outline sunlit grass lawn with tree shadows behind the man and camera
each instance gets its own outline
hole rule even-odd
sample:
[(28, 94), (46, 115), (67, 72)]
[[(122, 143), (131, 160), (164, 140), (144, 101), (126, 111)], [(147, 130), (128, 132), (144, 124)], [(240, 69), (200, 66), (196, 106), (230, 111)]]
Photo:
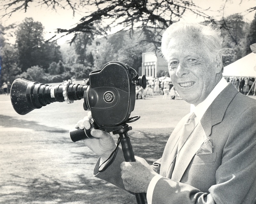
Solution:
[[(135, 155), (149, 163), (161, 157), (173, 128), (189, 104), (153, 96), (136, 100), (128, 132)], [(10, 96), (0, 95), (0, 203), (97, 204), (136, 203), (133, 195), (98, 178), (97, 161), (83, 142), (72, 142), (68, 131), (86, 115), (83, 100), (52, 103), (18, 115)], [(117, 140), (117, 136), (113, 136)]]

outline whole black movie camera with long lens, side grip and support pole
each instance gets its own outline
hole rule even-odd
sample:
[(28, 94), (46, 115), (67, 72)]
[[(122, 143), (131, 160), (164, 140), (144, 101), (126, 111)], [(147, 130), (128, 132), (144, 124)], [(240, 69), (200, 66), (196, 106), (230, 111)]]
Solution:
[[(52, 102), (73, 103), (84, 98), (84, 110), (90, 110), (94, 122), (90, 130), (72, 129), (71, 140), (76, 142), (91, 138), (91, 130), (101, 129), (119, 134), (120, 143), (127, 162), (134, 162), (134, 154), (127, 132), (132, 129), (126, 123), (139, 119), (130, 117), (134, 109), (135, 87), (146, 88), (146, 77), (139, 78), (132, 67), (122, 62), (108, 62), (100, 70), (89, 74), (90, 85), (67, 82), (50, 86), (26, 79), (16, 79), (11, 87), (11, 101), (14, 110), (25, 115), (34, 109), (40, 109)], [(135, 193), (138, 203), (145, 203), (140, 193)]]

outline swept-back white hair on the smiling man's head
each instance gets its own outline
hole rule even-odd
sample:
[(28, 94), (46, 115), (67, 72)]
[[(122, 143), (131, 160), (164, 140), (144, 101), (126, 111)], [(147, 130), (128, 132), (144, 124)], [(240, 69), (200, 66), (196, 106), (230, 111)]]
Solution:
[(211, 60), (217, 55), (222, 53), (222, 41), (220, 28), (213, 23), (203, 25), (200, 23), (186, 23), (178, 21), (169, 26), (162, 37), (162, 53), (167, 59), (168, 44), (173, 37), (178, 37), (181, 34), (187, 34), (188, 36), (198, 36), (201, 39), (202, 46), (205, 49), (206, 54)]

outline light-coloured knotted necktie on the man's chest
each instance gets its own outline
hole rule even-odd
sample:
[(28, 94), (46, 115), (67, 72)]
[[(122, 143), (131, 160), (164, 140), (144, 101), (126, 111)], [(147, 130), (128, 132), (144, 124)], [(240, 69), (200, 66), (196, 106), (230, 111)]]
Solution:
[(184, 143), (187, 141), (188, 137), (191, 135), (191, 133), (195, 129), (195, 117), (196, 117), (196, 114), (192, 113), (188, 117), (187, 122), (182, 127), (180, 139), (179, 139), (179, 145), (178, 145), (178, 154), (180, 152), (180, 149), (184, 145)]

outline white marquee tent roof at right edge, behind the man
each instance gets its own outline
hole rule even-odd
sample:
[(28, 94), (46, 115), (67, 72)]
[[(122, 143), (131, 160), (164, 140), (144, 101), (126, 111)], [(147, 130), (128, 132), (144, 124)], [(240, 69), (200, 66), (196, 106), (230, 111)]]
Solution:
[(223, 76), (256, 78), (256, 54), (250, 53), (224, 67)]

